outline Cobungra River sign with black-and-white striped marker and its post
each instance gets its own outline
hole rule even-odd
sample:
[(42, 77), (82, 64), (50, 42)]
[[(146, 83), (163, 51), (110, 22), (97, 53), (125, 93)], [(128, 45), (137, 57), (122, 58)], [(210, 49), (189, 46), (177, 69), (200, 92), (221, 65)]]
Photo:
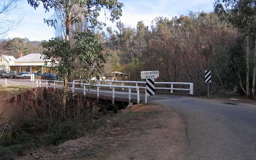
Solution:
[(151, 96), (155, 95), (155, 78), (159, 78), (159, 71), (142, 71), (140, 76), (141, 79), (146, 79), (145, 102), (147, 102), (147, 96), (149, 96), (149, 106), (151, 109)]

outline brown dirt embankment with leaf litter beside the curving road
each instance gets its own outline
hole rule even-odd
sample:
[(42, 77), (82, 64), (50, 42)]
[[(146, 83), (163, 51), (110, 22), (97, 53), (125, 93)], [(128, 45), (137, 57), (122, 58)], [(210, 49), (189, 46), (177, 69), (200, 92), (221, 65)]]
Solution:
[(57, 147), (38, 149), (20, 160), (183, 159), (185, 124), (167, 107), (134, 105), (105, 120), (104, 129)]

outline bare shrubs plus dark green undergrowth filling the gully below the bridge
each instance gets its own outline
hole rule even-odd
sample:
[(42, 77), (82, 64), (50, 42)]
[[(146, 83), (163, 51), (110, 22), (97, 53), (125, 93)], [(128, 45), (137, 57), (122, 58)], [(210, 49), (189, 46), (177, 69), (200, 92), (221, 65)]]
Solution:
[[(8, 92), (8, 87), (1, 87), (1, 93)], [(111, 128), (105, 122), (116, 110), (97, 113), (99, 108), (94, 100), (70, 93), (66, 112), (61, 113), (60, 97), (57, 89), (48, 88), (46, 92), (38, 88), (27, 92), (17, 104), (0, 100), (0, 159), (26, 155), (37, 148)]]

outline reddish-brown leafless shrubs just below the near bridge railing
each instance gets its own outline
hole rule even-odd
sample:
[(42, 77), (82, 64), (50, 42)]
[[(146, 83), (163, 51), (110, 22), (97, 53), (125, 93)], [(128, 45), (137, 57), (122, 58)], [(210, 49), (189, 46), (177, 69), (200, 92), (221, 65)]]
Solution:
[(61, 105), (62, 92), (44, 87), (27, 92), (15, 100), (0, 100), (0, 136), (4, 132), (44, 130), (67, 122), (85, 124), (91, 120), (94, 100), (69, 93), (67, 105)]

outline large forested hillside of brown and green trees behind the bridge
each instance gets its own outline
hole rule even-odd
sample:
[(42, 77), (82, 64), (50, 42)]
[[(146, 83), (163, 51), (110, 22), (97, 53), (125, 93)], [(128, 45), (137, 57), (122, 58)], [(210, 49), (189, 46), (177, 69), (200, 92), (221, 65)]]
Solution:
[(137, 28), (125, 22), (116, 27), (108, 27), (103, 37), (115, 57), (113, 70), (124, 71), (131, 80), (140, 80), (140, 71), (159, 70), (159, 81), (193, 82), (195, 93), (201, 95), (207, 86), (204, 70), (211, 70), (215, 94), (241, 89), (239, 76), (245, 86), (244, 35), (215, 13), (157, 17), (151, 27), (143, 21)]

